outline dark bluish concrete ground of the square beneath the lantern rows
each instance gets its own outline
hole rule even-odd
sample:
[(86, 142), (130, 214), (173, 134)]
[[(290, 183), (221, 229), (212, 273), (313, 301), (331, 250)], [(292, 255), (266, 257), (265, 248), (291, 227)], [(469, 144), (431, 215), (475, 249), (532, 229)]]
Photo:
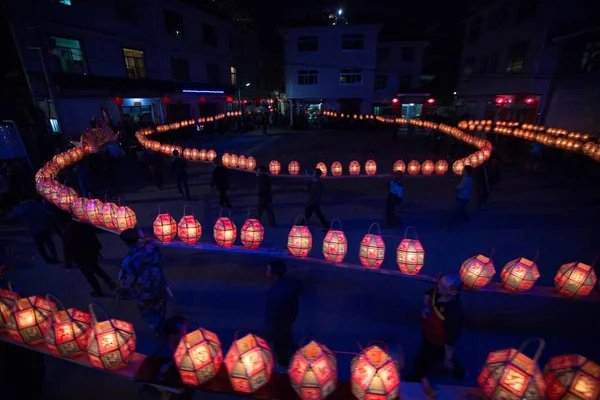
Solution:
[[(316, 135), (316, 136), (315, 136)], [(337, 144), (339, 134), (327, 132), (276, 132), (274, 135), (248, 135), (242, 138), (223, 138), (212, 143), (221, 153), (251, 149), (259, 162), (268, 162), (272, 153), (289, 154), (290, 144), (310, 143), (318, 137), (317, 145), (306, 145), (302, 154), (312, 162), (311, 148), (329, 148)], [(371, 135), (377, 135), (372, 133)], [(377, 146), (395, 146), (389, 133), (385, 137), (364, 135), (364, 148), (377, 141)], [(348, 134), (353, 143), (360, 142), (356, 134)], [(350, 139), (349, 139), (350, 140)], [(400, 140), (400, 143), (403, 143)], [(276, 149), (279, 149), (276, 151)], [(415, 158), (426, 151), (421, 147)], [(410, 148), (405, 154), (412, 157)], [(259, 158), (260, 157), (260, 158)], [(390, 156), (390, 159), (392, 157)], [(137, 213), (139, 226), (150, 232), (159, 203), (176, 220), (185, 204), (193, 207), (204, 233), (203, 241), (212, 242), (212, 225), (218, 217), (217, 194), (210, 190), (208, 165), (190, 167), (192, 200), (182, 200), (172, 179), (158, 191), (143, 180), (135, 166), (123, 165), (116, 190), (126, 204)], [(448, 232), (440, 228), (450, 215), (454, 202), (454, 186), (458, 178), (407, 177), (405, 202), (401, 207), (402, 227), (382, 229), (387, 246), (382, 268), (396, 269), (395, 248), (408, 225), (415, 226), (426, 251), (425, 274), (438, 271), (456, 273), (467, 257), (489, 253), (493, 257), (499, 281), (499, 271), (511, 259), (532, 256), (540, 251), (538, 265), (542, 276), (538, 285), (551, 286), (560, 265), (571, 261), (591, 263), (598, 253), (597, 227), (598, 193), (595, 186), (572, 192), (543, 174), (526, 174), (516, 167), (507, 167), (503, 181), (495, 188), (489, 206), (475, 211), (469, 206), (471, 222), (460, 224)], [(264, 247), (285, 248), (287, 233), (296, 215), (303, 212), (306, 201), (303, 179), (274, 177), (274, 203), (278, 228), (266, 229)], [(115, 188), (113, 188), (115, 189)], [(383, 222), (386, 183), (381, 179), (326, 180), (323, 211), (328, 218), (339, 218), (349, 242), (346, 262), (358, 263), (358, 244), (372, 222)], [(256, 178), (252, 174), (232, 172), (230, 199), (234, 206), (233, 220), (241, 227), (248, 209), (256, 206)], [(266, 221), (265, 221), (266, 222)], [(383, 225), (382, 225), (383, 228)], [(6, 278), (19, 284), (27, 293), (52, 293), (63, 303), (85, 309), (92, 300), (91, 291), (78, 272), (67, 273), (61, 266), (45, 265), (35, 253), (32, 240), (13, 222), (3, 221), (2, 241), (16, 245), (21, 262), (7, 271)], [(310, 256), (322, 258), (320, 247), (324, 233), (312, 221), (313, 249)], [(110, 233), (99, 235), (103, 243), (102, 266), (116, 276), (125, 248), (118, 237)], [(260, 334), (263, 329), (264, 293), (270, 285), (265, 277), (266, 256), (227, 252), (201, 252), (192, 249), (163, 249), (163, 267), (174, 292), (168, 306), (170, 315), (181, 314), (201, 326), (213, 330), (225, 346), (231, 343), (237, 329)], [(301, 310), (294, 334), (298, 340), (314, 337), (332, 350), (357, 351), (372, 340), (384, 340), (405, 355), (406, 373), (412, 364), (420, 341), (418, 316), (423, 292), (430, 284), (415, 279), (390, 277), (370, 271), (351, 271), (321, 263), (289, 262), (290, 273), (305, 285)], [(598, 296), (596, 294), (595, 299)], [(463, 385), (474, 386), (479, 368), (489, 351), (518, 347), (531, 337), (543, 337), (546, 349), (541, 363), (564, 353), (580, 353), (600, 361), (597, 346), (598, 301), (566, 300), (503, 293), (465, 292), (462, 301), (467, 314), (467, 327), (457, 346), (457, 355), (469, 371)], [(130, 302), (100, 299), (114, 317), (134, 323), (138, 335), (138, 351), (150, 354), (156, 342)], [(533, 349), (528, 354), (533, 354)], [(348, 379), (351, 356), (338, 357), (339, 375)], [(88, 371), (60, 360), (49, 360), (47, 398), (73, 397), (70, 385), (85, 390), (87, 398), (135, 398), (138, 385), (110, 377), (98, 371)], [(439, 384), (452, 383), (439, 376)], [(118, 389), (118, 391), (117, 391)], [(198, 398), (208, 398), (205, 394)]]

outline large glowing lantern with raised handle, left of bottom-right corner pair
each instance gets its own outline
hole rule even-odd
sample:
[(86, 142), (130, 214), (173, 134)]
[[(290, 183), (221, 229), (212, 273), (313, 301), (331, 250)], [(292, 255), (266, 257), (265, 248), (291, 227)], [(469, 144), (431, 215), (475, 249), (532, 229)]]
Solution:
[(477, 377), (483, 397), (490, 400), (542, 399), (546, 384), (537, 360), (543, 345), (533, 359), (521, 350), (491, 352)]

